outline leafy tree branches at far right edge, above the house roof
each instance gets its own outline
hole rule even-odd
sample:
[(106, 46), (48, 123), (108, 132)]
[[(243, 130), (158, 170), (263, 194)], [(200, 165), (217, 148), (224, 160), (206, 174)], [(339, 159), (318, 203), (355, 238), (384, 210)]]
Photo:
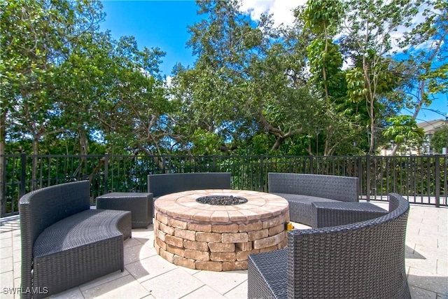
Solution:
[[(448, 2), (422, 1), (424, 20), (405, 34), (400, 41), (404, 48), (406, 69), (402, 89), (407, 92), (406, 106), (412, 118), (428, 107), (433, 97), (448, 92)], [(393, 153), (400, 144), (395, 144)]]

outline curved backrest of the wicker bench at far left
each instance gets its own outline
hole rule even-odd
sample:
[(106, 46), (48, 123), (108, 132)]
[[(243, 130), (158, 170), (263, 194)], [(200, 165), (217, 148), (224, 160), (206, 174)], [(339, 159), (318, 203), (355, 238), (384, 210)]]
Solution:
[(89, 181), (45, 187), (20, 198), (22, 287), (31, 286), (33, 246), (38, 235), (53, 223), (86, 209), (90, 209)]

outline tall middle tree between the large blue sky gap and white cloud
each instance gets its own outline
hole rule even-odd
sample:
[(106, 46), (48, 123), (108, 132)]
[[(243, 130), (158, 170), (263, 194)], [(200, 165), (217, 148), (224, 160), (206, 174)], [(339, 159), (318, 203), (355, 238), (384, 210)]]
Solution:
[[(238, 11), (237, 1), (197, 1), (198, 13), (208, 18), (189, 27), (188, 46), (197, 55), (193, 69), (178, 67), (172, 84), (181, 105), (176, 119), (176, 142), (188, 144), (199, 134), (217, 134), (215, 141), (237, 142), (248, 110), (240, 109), (250, 49), (258, 43), (253, 29)], [(199, 140), (199, 139), (198, 139)], [(228, 150), (225, 144), (216, 148)]]

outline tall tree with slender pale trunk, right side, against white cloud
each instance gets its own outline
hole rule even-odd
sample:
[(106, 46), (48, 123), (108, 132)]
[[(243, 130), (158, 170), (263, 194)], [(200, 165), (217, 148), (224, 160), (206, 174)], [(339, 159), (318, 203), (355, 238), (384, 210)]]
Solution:
[[(412, 1), (362, 0), (346, 1), (346, 26), (342, 48), (353, 61), (346, 74), (348, 95), (353, 102), (363, 102), (369, 115), (370, 148), (378, 125), (378, 104), (397, 87), (399, 77), (391, 69), (391, 35), (398, 27), (409, 25), (416, 14)], [(392, 99), (388, 99), (391, 101)], [(382, 104), (387, 104), (383, 101)]]

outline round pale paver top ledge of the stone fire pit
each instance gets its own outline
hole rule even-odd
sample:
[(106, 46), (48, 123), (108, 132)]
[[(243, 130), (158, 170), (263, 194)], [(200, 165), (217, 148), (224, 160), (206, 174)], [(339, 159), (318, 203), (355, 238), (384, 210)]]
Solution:
[[(215, 205), (197, 202), (210, 195), (239, 196), (244, 204)], [(164, 195), (155, 200), (155, 211), (174, 218), (197, 222), (234, 223), (271, 218), (288, 211), (288, 202), (278, 195), (251, 190), (189, 190)]]

